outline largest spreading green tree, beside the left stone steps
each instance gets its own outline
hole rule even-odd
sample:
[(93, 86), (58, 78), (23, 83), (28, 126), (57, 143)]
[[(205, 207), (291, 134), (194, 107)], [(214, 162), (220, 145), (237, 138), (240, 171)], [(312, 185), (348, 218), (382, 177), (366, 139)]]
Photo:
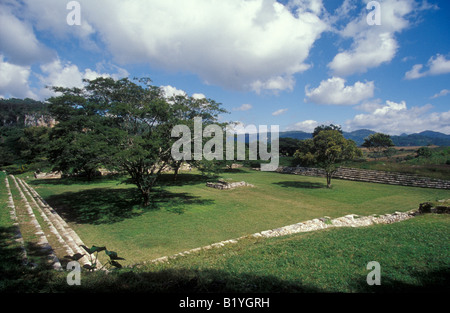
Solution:
[(174, 126), (190, 125), (194, 116), (212, 122), (222, 112), (212, 100), (167, 99), (147, 78), (97, 78), (85, 84), (81, 89), (53, 88), (61, 95), (49, 99), (58, 121), (51, 134), (51, 160), (65, 169), (103, 165), (125, 171), (144, 205), (173, 161)]

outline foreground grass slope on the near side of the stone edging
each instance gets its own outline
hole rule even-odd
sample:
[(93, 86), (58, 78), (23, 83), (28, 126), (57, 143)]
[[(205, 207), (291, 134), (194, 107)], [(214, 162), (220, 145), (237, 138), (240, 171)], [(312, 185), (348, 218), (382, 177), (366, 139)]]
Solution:
[[(449, 231), (450, 216), (429, 214), (390, 225), (244, 239), (170, 263), (84, 273), (80, 286), (68, 286), (66, 274), (53, 271), (29, 291), (448, 293)], [(379, 286), (366, 282), (371, 261), (380, 264)]]

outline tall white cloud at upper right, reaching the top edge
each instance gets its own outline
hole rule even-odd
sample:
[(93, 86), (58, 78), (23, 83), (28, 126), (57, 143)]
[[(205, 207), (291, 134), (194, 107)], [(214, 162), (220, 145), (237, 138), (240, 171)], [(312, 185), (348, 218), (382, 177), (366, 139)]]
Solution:
[[(399, 48), (395, 34), (409, 26), (408, 15), (414, 10), (427, 9), (426, 6), (418, 7), (413, 0), (379, 2), (381, 25), (368, 25), (367, 14), (370, 11), (364, 6), (357, 18), (338, 31), (344, 38), (352, 38), (353, 43), (350, 49), (338, 53), (328, 64), (335, 75), (365, 73), (370, 68), (390, 62)], [(344, 5), (349, 6), (349, 2), (345, 1)], [(348, 9), (341, 11), (348, 12)]]

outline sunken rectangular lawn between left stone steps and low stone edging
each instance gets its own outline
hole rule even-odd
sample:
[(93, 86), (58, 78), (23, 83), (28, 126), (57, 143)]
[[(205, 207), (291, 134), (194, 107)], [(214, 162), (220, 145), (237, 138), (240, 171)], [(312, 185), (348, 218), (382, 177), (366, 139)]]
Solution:
[(421, 189), (250, 170), (222, 173), (255, 185), (235, 190), (205, 186), (198, 173), (177, 183), (163, 176), (154, 202), (141, 208), (139, 194), (123, 179), (30, 180), (87, 245), (106, 245), (125, 265), (172, 255), (222, 240), (322, 216), (407, 211), (450, 198), (448, 190)]

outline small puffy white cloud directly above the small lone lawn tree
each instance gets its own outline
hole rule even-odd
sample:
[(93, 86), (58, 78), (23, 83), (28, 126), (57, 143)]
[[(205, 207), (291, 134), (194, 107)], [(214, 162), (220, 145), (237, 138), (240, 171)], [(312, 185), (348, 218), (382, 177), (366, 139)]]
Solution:
[(373, 82), (356, 82), (353, 86), (346, 86), (346, 81), (340, 77), (332, 77), (320, 83), (319, 87), (309, 89), (305, 87), (306, 99), (316, 104), (355, 105), (373, 97), (375, 85)]

